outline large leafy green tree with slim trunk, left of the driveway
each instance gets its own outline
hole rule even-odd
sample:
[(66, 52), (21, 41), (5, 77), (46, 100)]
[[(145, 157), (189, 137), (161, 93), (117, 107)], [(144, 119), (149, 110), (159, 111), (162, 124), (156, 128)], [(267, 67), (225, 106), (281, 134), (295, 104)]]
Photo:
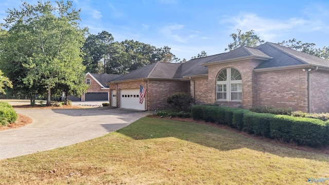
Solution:
[[(55, 6), (49, 1), (36, 5), (24, 2), (20, 10), (9, 10), (5, 18), (5, 27), (9, 29), (5, 63), (17, 63), (18, 67), (12, 69), (15, 72), (24, 69), (17, 79), (23, 81), (19, 84), (30, 91), (34, 89), (34, 93), (45, 90), (47, 106), (51, 90), (79, 73), (71, 69), (84, 69), (80, 48), (87, 30), (79, 27), (79, 12), (70, 1), (56, 1)], [(11, 61), (11, 55), (16, 61)]]

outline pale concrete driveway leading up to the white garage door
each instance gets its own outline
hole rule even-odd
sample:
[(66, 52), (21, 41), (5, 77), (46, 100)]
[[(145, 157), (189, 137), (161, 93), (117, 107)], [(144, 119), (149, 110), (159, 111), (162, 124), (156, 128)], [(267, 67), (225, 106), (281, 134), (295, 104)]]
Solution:
[(0, 132), (0, 159), (56, 149), (119, 130), (150, 113), (97, 107), (15, 109), (32, 118), (24, 127)]

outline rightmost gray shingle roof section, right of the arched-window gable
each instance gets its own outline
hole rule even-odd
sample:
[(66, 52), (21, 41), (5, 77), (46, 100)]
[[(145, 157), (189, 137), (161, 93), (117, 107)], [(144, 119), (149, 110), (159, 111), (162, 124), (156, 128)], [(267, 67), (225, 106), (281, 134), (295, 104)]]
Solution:
[(272, 59), (262, 62), (255, 69), (300, 64), (315, 64), (329, 67), (329, 61), (288, 47), (266, 42), (257, 49), (270, 55)]

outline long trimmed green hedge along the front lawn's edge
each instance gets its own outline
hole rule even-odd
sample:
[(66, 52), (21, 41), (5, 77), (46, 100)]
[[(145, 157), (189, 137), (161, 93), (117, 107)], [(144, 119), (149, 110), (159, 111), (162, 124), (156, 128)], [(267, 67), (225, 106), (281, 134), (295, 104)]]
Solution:
[(191, 116), (195, 120), (227, 124), (249, 134), (285, 142), (308, 146), (329, 144), (329, 121), (209, 105), (192, 106)]

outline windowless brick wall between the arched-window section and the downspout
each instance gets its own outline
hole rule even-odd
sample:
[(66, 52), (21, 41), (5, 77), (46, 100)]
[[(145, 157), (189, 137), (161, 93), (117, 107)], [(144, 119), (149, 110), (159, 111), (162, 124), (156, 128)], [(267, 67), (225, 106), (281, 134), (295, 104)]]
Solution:
[(258, 72), (256, 106), (307, 112), (307, 72), (301, 69)]

